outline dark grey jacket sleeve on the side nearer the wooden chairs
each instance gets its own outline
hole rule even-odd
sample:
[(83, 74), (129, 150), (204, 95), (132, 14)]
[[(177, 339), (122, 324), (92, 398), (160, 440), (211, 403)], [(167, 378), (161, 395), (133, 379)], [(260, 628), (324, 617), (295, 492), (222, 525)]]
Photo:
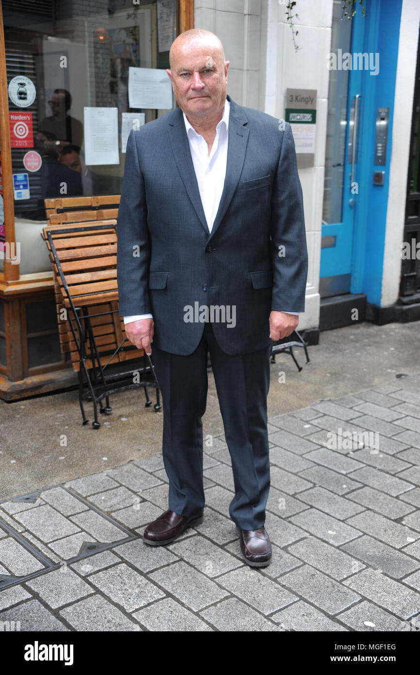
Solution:
[(150, 261), (145, 180), (140, 169), (134, 130), (126, 163), (117, 217), (117, 284), (120, 316), (151, 313), (148, 290)]

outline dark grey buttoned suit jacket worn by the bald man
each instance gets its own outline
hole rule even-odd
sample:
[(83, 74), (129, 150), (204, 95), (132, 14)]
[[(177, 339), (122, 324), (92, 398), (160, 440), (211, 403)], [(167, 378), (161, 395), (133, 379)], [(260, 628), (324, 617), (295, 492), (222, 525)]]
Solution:
[(128, 138), (117, 219), (120, 315), (151, 312), (153, 344), (173, 354), (195, 350), (206, 307), (231, 355), (269, 346), (271, 310), (305, 309), (307, 244), (290, 124), (228, 100), (226, 179), (211, 232), (181, 109)]

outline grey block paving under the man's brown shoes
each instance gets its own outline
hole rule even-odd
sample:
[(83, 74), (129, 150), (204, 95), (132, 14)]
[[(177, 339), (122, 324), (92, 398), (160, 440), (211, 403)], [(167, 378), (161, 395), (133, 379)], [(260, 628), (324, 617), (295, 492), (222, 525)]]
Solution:
[(273, 558), (257, 570), (221, 433), (204, 522), (165, 547), (142, 543), (167, 508), (159, 453), (8, 498), (0, 629), (420, 631), (419, 432), (420, 372), (271, 416)]

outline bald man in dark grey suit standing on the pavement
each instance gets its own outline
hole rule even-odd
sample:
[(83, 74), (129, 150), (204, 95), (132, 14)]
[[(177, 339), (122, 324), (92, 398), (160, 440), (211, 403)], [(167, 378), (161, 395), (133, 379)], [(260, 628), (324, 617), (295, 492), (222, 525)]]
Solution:
[(209, 352), (230, 517), (244, 560), (263, 567), (269, 356), (296, 329), (307, 281), (294, 141), (289, 124), (227, 95), (229, 61), (213, 33), (182, 33), (169, 62), (179, 107), (130, 133), (117, 221), (120, 315), (128, 339), (153, 353), (163, 400), (169, 508), (143, 541), (165, 545), (203, 521)]

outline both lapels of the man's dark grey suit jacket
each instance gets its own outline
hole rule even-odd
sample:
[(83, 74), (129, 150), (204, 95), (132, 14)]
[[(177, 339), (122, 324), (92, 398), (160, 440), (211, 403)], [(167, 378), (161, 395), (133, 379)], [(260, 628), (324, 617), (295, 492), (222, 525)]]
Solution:
[(230, 102), (230, 115), (226, 177), (224, 182), (224, 190), (221, 194), (219, 203), (219, 209), (217, 211), (211, 233), (207, 227), (203, 203), (201, 202), (199, 185), (196, 180), (194, 164), (192, 163), (190, 145), (188, 143), (188, 136), (186, 134), (182, 110), (177, 108), (174, 112), (177, 112), (178, 115), (176, 115), (175, 119), (169, 121), (169, 139), (172, 145), (172, 151), (174, 153), (178, 171), (180, 172), (182, 182), (184, 183), (185, 189), (188, 193), (188, 196), (190, 197), (192, 205), (194, 206), (196, 214), (199, 217), (201, 225), (203, 225), (205, 231), (209, 235), (209, 239), (213, 236), (213, 234), (215, 234), (217, 227), (219, 227), (228, 209), (228, 206), (232, 201), (236, 187), (238, 186), (238, 180), (244, 165), (246, 144), (248, 142), (249, 135), (248, 128), (244, 126), (247, 124), (248, 120), (244, 115), (242, 107), (234, 103), (230, 96), (228, 96), (228, 101)]

